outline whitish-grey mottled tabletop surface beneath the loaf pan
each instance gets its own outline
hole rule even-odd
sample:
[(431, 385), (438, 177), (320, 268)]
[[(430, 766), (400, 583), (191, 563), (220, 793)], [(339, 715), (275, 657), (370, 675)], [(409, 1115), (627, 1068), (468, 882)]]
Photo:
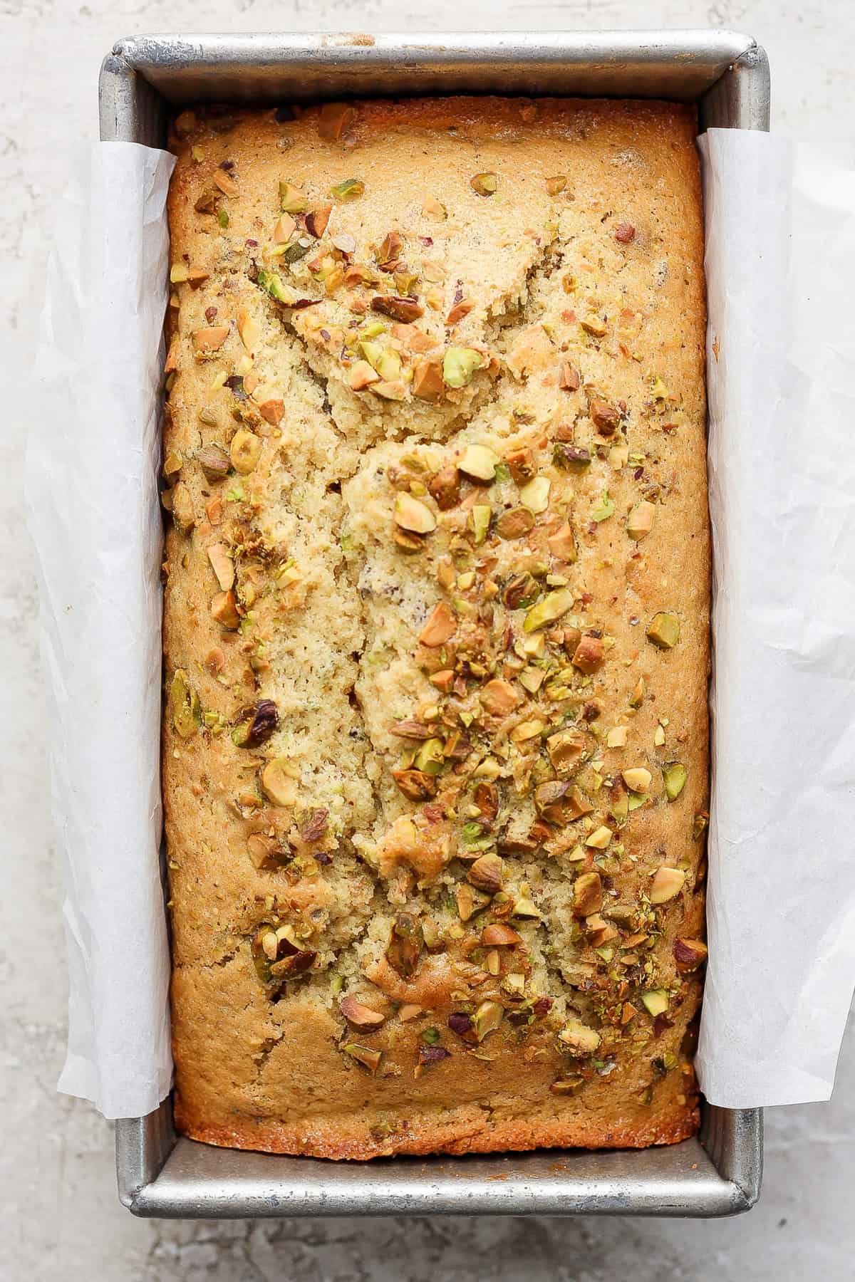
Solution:
[[(74, 137), (95, 137), (117, 36), (194, 29), (550, 29), (729, 26), (765, 44), (774, 123), (855, 159), (849, 0), (0, 0), (0, 1278), (3, 1282), (800, 1282), (855, 1276), (855, 1038), (829, 1105), (772, 1110), (760, 1205), (720, 1223), (296, 1220), (153, 1223), (117, 1199), (113, 1132), (55, 1094), (65, 1024), (50, 733), (21, 469), (46, 214)], [(746, 1013), (750, 1015), (750, 1013)]]

